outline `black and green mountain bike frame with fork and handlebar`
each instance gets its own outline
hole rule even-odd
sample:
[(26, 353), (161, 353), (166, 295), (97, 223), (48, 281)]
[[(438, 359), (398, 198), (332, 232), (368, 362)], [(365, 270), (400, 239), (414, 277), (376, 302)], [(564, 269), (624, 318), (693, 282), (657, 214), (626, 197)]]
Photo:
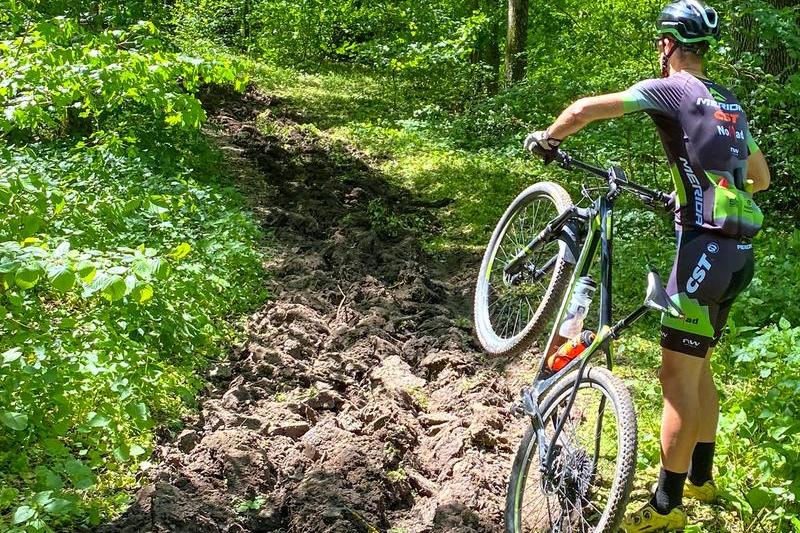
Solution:
[[(546, 370), (546, 357), (541, 358), (539, 365), (539, 372), (537, 378), (530, 387), (525, 387), (522, 390), (522, 410), (532, 419), (534, 429), (536, 430), (536, 439), (538, 450), (540, 454), (540, 465), (542, 474), (546, 474), (552, 467), (554, 460), (553, 450), (556, 441), (558, 440), (564, 425), (569, 416), (569, 412), (577, 397), (578, 389), (581, 380), (589, 365), (589, 362), (601, 352), (601, 349), (606, 354), (605, 366), (611, 370), (613, 366), (613, 357), (611, 351), (610, 341), (616, 338), (623, 330), (629, 327), (633, 322), (640, 318), (647, 312), (647, 307), (642, 305), (634, 312), (627, 315), (616, 324), (612, 325), (611, 313), (611, 280), (612, 280), (612, 255), (613, 255), (613, 235), (614, 235), (614, 202), (623, 189), (630, 190), (639, 195), (645, 201), (655, 202), (661, 201), (666, 203), (668, 196), (659, 191), (652, 191), (646, 187), (642, 187), (635, 183), (629, 182), (625, 177), (622, 169), (612, 167), (610, 169), (601, 169), (593, 167), (586, 163), (582, 163), (572, 159), (564, 152), (559, 152), (556, 159), (560, 166), (573, 169), (579, 168), (588, 171), (592, 174), (605, 178), (609, 185), (608, 193), (599, 197), (592, 206), (588, 208), (579, 208), (573, 206), (571, 209), (565, 211), (555, 219), (553, 219), (547, 228), (537, 235), (528, 246), (523, 248), (522, 255), (527, 255), (529, 250), (534, 248), (539, 242), (543, 240), (560, 239), (564, 246), (577, 247), (580, 240), (580, 234), (573, 235), (570, 231), (575, 232), (576, 229), (585, 229), (587, 224), (589, 226), (588, 234), (584, 241), (583, 247), (575, 259), (575, 268), (572, 273), (572, 278), (567, 287), (564, 299), (556, 316), (551, 330), (550, 337), (545, 348), (545, 354), (549, 354), (552, 349), (553, 340), (556, 336), (561, 322), (564, 320), (567, 306), (572, 294), (573, 287), (575, 286), (578, 278), (585, 276), (589, 273), (589, 269), (597, 256), (600, 253), (600, 317), (598, 324), (597, 336), (594, 342), (584, 350), (580, 357), (570, 361), (563, 369), (556, 374), (549, 376)], [(577, 228), (576, 228), (577, 226)], [(567, 234), (562, 237), (562, 232), (565, 228)], [(568, 250), (566, 257), (574, 259), (576, 250)], [(519, 264), (524, 261), (525, 257), (515, 257), (509, 265)], [(549, 263), (548, 263), (549, 264)], [(547, 438), (544, 433), (545, 421), (542, 418), (542, 413), (539, 409), (539, 402), (552, 390), (556, 382), (569, 372), (577, 368), (577, 379), (573, 387), (569, 400), (567, 401), (564, 412), (559, 416), (556, 424), (555, 431), (551, 438)], [(598, 435), (602, 431), (602, 413), (605, 409), (605, 398), (601, 399), (599, 412), (600, 416), (597, 420), (597, 428), (595, 430), (595, 456), (597, 456), (598, 448), (600, 445)], [(549, 440), (549, 442), (548, 442)]]

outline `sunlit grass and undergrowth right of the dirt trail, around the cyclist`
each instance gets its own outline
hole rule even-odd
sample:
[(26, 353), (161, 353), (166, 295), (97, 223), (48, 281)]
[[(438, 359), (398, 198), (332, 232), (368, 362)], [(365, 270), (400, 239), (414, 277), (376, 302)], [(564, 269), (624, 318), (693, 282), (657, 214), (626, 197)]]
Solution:
[[(531, 101), (531, 107), (516, 114), (522, 118), (509, 125), (505, 122), (514, 113), (492, 117), (489, 111), (473, 111), (473, 118), (453, 117), (413, 91), (403, 92), (358, 67), (326, 66), (310, 73), (262, 63), (249, 68), (265, 90), (307, 112), (326, 135), (373, 156), (391, 179), (426, 200), (453, 200), (438, 210), (443, 231), (425, 238), (434, 254), (482, 252), (507, 204), (536, 181), (557, 181), (573, 199), (580, 198), (583, 177), (543, 167), (520, 148), (524, 134), (552, 119), (556, 109)], [(502, 110), (504, 99), (513, 95), (501, 93), (483, 108)], [(484, 123), (475, 117), (483, 117)], [(622, 164), (632, 179), (668, 190), (663, 156), (646, 120), (633, 116), (592, 125), (566, 148), (603, 165)], [(585, 184), (597, 186), (591, 180)], [(618, 204), (615, 232), (614, 309), (619, 316), (641, 301), (646, 265), (666, 279), (675, 243), (668, 217), (625, 197)], [(734, 306), (728, 334), (713, 361), (722, 402), (717, 481), (723, 500), (712, 507), (687, 502), (695, 520), (689, 530), (695, 532), (786, 531), (800, 525), (800, 485), (795, 481), (800, 405), (794, 401), (800, 387), (794, 378), (800, 370), (800, 328), (792, 327), (800, 325), (800, 309), (787, 305), (800, 298), (800, 288), (789, 281), (800, 277), (795, 259), (800, 232), (768, 218), (754, 248), (755, 278)], [(640, 420), (635, 497), (644, 497), (658, 472), (657, 328), (658, 317), (645, 317), (617, 345), (617, 371), (634, 392)]]

